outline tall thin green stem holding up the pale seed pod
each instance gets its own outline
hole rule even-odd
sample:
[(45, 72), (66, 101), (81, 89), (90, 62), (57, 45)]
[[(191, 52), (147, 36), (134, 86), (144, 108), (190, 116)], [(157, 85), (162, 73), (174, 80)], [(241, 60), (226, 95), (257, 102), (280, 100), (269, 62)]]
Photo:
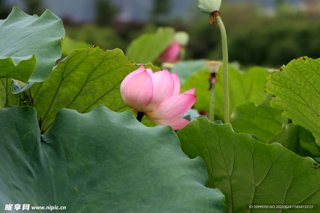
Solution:
[(224, 123), (230, 123), (229, 119), (229, 86), (228, 86), (228, 46), (226, 29), (222, 23), (220, 16), (217, 16), (216, 21), (220, 27), (222, 40), (222, 61), (223, 61), (223, 98), (224, 98)]

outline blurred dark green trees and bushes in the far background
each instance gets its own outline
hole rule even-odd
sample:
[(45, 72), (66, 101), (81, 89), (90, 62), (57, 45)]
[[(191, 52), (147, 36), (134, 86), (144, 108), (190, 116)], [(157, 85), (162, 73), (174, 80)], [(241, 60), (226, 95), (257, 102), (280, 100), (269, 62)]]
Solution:
[[(41, 15), (45, 10), (44, 0), (22, 1), (28, 14)], [(141, 34), (154, 33), (160, 26), (170, 26), (190, 35), (186, 60), (222, 58), (220, 31), (210, 25), (207, 14), (190, 14), (191, 20), (168, 18), (174, 7), (173, 0), (151, 2), (153, 6), (148, 21), (119, 20), (117, 15), (121, 5), (111, 0), (94, 1), (95, 21), (79, 23), (70, 17), (60, 18), (69, 38), (103, 49), (120, 48), (125, 52), (130, 42)], [(196, 7), (196, 2), (192, 6)], [(238, 61), (243, 67), (277, 68), (301, 56), (320, 57), (320, 2), (299, 2), (293, 5), (286, 0), (277, 0), (274, 7), (263, 7), (245, 1), (222, 1), (220, 15), (227, 30), (229, 61)], [(2, 19), (11, 11), (4, 3), (0, 0)]]

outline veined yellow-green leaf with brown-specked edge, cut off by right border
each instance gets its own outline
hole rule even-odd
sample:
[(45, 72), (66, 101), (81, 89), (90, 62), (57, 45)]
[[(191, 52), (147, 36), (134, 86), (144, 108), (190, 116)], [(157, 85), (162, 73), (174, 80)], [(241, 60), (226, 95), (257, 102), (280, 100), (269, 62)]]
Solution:
[[(320, 58), (300, 57), (268, 77), (266, 92), (274, 95), (272, 107), (283, 110), (293, 123), (316, 136), (320, 145)], [(319, 107), (318, 107), (319, 105)]]

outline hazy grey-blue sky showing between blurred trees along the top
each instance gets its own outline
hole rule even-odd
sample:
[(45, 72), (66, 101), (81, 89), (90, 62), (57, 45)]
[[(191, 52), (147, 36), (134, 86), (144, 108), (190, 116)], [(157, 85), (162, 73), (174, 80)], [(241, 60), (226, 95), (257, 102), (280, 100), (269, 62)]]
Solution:
[[(121, 21), (147, 21), (152, 10), (152, 0), (111, 0), (120, 7), (117, 19)], [(223, 0), (222, 0), (223, 1)], [(276, 0), (226, 0), (227, 2), (249, 2), (273, 7)], [(295, 3), (299, 0), (286, 0)], [(51, 10), (59, 18), (69, 18), (74, 22), (90, 22), (95, 19), (95, 0), (43, 0), (47, 9)], [(6, 4), (17, 6), (22, 11), (26, 7), (22, 0), (6, 0)], [(172, 0), (171, 17), (192, 18), (197, 12), (197, 0)], [(187, 11), (187, 12), (186, 12)]]

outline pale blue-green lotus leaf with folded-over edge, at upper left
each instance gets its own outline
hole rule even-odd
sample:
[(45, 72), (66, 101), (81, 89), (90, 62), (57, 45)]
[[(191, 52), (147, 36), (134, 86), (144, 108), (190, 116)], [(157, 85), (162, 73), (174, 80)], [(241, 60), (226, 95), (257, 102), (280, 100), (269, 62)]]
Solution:
[(61, 19), (51, 11), (38, 17), (13, 7), (8, 18), (0, 20), (0, 77), (28, 82), (30, 86), (46, 80), (61, 57), (64, 35)]

